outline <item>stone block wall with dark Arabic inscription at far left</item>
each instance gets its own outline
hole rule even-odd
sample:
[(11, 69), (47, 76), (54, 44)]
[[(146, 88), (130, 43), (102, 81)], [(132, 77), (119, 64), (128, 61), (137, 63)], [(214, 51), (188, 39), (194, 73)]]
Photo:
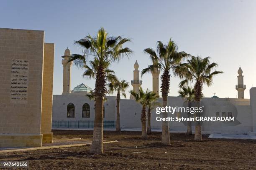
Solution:
[(44, 31), (0, 28), (0, 147), (41, 146)]

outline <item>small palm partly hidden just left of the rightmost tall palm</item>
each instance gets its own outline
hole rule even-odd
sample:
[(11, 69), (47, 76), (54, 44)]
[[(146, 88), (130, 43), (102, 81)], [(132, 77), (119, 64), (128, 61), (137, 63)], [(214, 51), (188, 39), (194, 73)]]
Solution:
[[(191, 87), (182, 87), (182, 90), (179, 90), (178, 93), (179, 96), (184, 98), (187, 102), (187, 105), (190, 109), (191, 102), (194, 100), (195, 97), (195, 90)], [(191, 114), (188, 112), (187, 117), (190, 117)], [(192, 135), (192, 127), (191, 127), (191, 121), (187, 121), (187, 135)]]

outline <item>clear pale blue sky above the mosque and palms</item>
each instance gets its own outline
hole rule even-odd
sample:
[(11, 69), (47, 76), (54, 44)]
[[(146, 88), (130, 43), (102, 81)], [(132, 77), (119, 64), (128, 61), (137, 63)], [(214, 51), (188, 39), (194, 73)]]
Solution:
[[(237, 70), (243, 70), (249, 89), (256, 87), (256, 0), (1, 0), (0, 28), (44, 30), (45, 42), (55, 43), (54, 95), (62, 92), (61, 56), (69, 47), (71, 53), (81, 53), (74, 45), (88, 33), (95, 35), (100, 27), (110, 35), (132, 38), (127, 44), (134, 54), (113, 64), (111, 69), (121, 79), (133, 79), (133, 64), (139, 70), (150, 64), (143, 54), (146, 47), (156, 47), (156, 41), (170, 37), (179, 50), (192, 55), (211, 57), (225, 73), (204, 87), (205, 97), (214, 92), (219, 97), (237, 97)], [(72, 68), (72, 89), (84, 83), (94, 87), (95, 80), (82, 77), (83, 70)], [(143, 76), (143, 88), (152, 89), (152, 76)], [(170, 94), (177, 96), (180, 80), (171, 77)], [(132, 87), (132, 86), (131, 86)], [(130, 87), (130, 89), (131, 89)], [(129, 96), (129, 95), (128, 95)]]

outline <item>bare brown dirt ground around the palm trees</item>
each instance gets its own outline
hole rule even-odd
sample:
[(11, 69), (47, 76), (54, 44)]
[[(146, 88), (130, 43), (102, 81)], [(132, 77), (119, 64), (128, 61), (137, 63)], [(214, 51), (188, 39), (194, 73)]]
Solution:
[[(54, 138), (91, 139), (92, 131), (53, 130)], [(28, 161), (27, 169), (47, 170), (256, 170), (256, 140), (220, 140), (171, 134), (171, 146), (161, 145), (161, 133), (148, 140), (140, 132), (104, 131), (104, 154), (90, 146), (1, 153), (0, 161)], [(137, 150), (136, 150), (137, 146)]]

